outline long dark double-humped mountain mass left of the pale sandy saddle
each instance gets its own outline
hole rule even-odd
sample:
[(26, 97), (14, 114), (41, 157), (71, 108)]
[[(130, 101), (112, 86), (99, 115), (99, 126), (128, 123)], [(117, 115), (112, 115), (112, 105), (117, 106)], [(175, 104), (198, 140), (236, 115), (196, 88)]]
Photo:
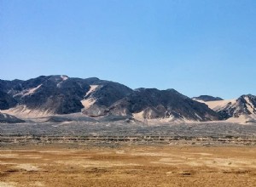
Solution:
[(27, 81), (0, 80), (0, 109), (18, 112), (43, 111), (86, 116), (134, 116), (180, 118), (195, 121), (218, 120), (218, 114), (174, 89), (132, 90), (117, 82), (67, 76), (41, 76)]

